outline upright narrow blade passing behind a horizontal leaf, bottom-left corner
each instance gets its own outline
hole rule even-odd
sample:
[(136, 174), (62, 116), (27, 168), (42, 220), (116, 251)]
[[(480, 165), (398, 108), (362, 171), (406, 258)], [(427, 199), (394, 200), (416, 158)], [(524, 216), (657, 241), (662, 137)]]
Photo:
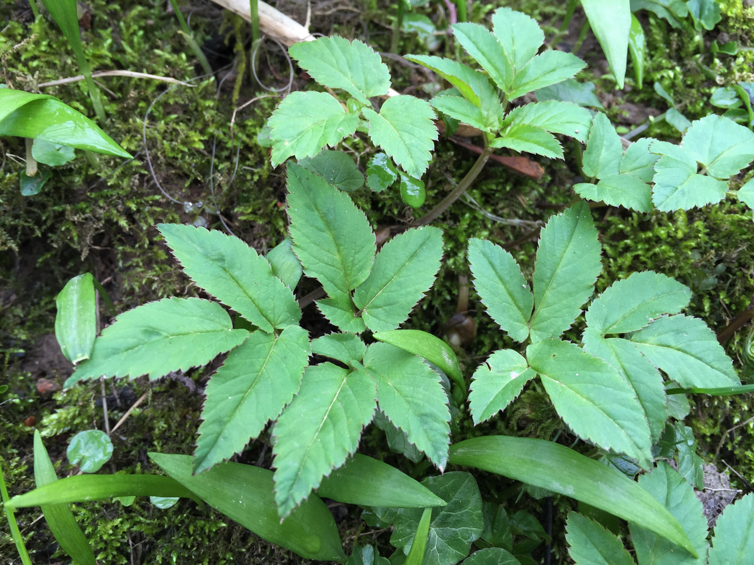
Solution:
[[(36, 487), (57, 482), (55, 468), (38, 429), (34, 430), (34, 481)], [(68, 505), (46, 504), (41, 507), (41, 511), (55, 541), (77, 565), (97, 565), (92, 548)]]

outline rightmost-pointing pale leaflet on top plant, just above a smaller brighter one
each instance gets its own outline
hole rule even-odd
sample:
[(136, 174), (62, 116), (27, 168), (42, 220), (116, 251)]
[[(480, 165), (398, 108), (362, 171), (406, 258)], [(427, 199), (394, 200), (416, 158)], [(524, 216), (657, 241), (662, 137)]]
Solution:
[(550, 100), (513, 108), (505, 117), (503, 127), (523, 124), (541, 127), (552, 133), (562, 133), (584, 142), (592, 124), (592, 115), (586, 108), (570, 102)]

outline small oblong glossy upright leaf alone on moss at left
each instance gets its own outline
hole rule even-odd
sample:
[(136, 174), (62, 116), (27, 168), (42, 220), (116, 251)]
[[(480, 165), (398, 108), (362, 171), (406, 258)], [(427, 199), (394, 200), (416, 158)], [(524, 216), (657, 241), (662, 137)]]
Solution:
[(97, 337), (97, 301), (91, 273), (74, 276), (55, 298), (55, 337), (74, 365), (89, 359)]

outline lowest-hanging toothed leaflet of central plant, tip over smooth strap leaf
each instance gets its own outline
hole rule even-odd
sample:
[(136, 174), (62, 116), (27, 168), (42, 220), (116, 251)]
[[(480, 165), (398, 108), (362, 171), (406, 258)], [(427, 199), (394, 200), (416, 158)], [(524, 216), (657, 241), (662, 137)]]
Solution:
[(363, 426), (374, 416), (376, 393), (374, 380), (363, 369), (351, 371), (332, 363), (306, 369), (299, 393), (273, 430), (280, 518), (354, 453)]

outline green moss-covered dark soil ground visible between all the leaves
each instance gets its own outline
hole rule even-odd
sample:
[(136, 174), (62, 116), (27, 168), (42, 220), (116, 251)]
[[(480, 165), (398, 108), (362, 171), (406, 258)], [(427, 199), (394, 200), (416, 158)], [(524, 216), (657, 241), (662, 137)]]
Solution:
[[(749, 4), (749, 2), (745, 2)], [(273, 169), (268, 150), (256, 144), (256, 135), (277, 103), (270, 96), (238, 112), (231, 131), (234, 108), (255, 96), (268, 94), (250, 79), (249, 31), (237, 17), (224, 13), (211, 2), (191, 2), (186, 14), (207, 47), (210, 62), (219, 69), (218, 80), (197, 78), (199, 67), (177, 33), (179, 29), (167, 2), (80, 3), (84, 47), (93, 69), (127, 69), (189, 81), (191, 87), (126, 77), (101, 78), (108, 121), (104, 129), (133, 154), (122, 161), (99, 156), (77, 159), (54, 170), (40, 194), (23, 197), (19, 191), (19, 139), (0, 141), (0, 385), (9, 386), (0, 395), (0, 463), (11, 495), (32, 487), (32, 434), (36, 427), (44, 436), (60, 476), (74, 468), (65, 457), (67, 441), (84, 429), (103, 429), (103, 396), (100, 383), (75, 386), (65, 392), (40, 389), (38, 379), (62, 383), (70, 372), (51, 337), (54, 329), (55, 296), (66, 280), (89, 271), (103, 282), (119, 312), (146, 301), (169, 295), (195, 295), (179, 272), (167, 249), (158, 240), (154, 225), (161, 221), (206, 224), (230, 229), (264, 251), (284, 237), (287, 218), (284, 209), (285, 183), (282, 167)], [(289, 5), (290, 4), (290, 5)], [(40, 2), (41, 5), (41, 2)], [(483, 5), (474, 2), (469, 14), (479, 20), (498, 5), (510, 5), (536, 17), (548, 38), (556, 32), (567, 2), (561, 0), (497, 0)], [(280, 9), (303, 21), (305, 3), (280, 2)], [(339, 8), (339, 9), (336, 9)], [(417, 8), (434, 20), (438, 29), (446, 26), (446, 8), (433, 2)], [(385, 2), (313, 2), (312, 31), (337, 32), (349, 38), (363, 38), (386, 51), (390, 45), (394, 6)], [(639, 88), (629, 69), (627, 87), (615, 90), (606, 70), (599, 45), (587, 35), (580, 56), (589, 67), (579, 77), (596, 84), (596, 92), (610, 118), (627, 129), (646, 115), (665, 111), (667, 102), (652, 89), (658, 81), (672, 93), (677, 107), (688, 118), (700, 118), (713, 108), (710, 94), (721, 84), (752, 80), (752, 34), (754, 8), (741, 0), (722, 2), (723, 19), (716, 29), (701, 36), (671, 28), (666, 21), (642, 14), (647, 33), (648, 60), (644, 87)], [(562, 41), (571, 44), (578, 35), (583, 14), (577, 12)], [(26, 0), (0, 3), (0, 81), (8, 87), (35, 91), (38, 84), (78, 74), (75, 57), (66, 39), (49, 18), (34, 22)], [(440, 52), (447, 47), (441, 39)], [(734, 40), (746, 49), (737, 56), (710, 55), (710, 43)], [(239, 50), (238, 46), (242, 46)], [(400, 53), (426, 52), (415, 34), (404, 34)], [(269, 47), (260, 57), (260, 73), (271, 87), (287, 83), (287, 63)], [(391, 66), (397, 90), (421, 94), (425, 78), (409, 66), (385, 59)], [(243, 63), (243, 64), (242, 64)], [(244, 69), (244, 65), (246, 65)], [(243, 71), (239, 78), (238, 70)], [(293, 87), (306, 87), (296, 75)], [(44, 93), (60, 97), (79, 111), (93, 115), (84, 83), (41, 87)], [(422, 95), (423, 96), (423, 95)], [(653, 110), (652, 108), (655, 108)], [(148, 118), (147, 118), (148, 115)], [(647, 134), (662, 139), (679, 139), (679, 133), (662, 121)], [(343, 147), (366, 165), (372, 149), (363, 142)], [(149, 161), (148, 154), (149, 151)], [(568, 153), (568, 151), (567, 151)], [(535, 157), (544, 167), (541, 179), (528, 179), (491, 164), (469, 194), (487, 212), (502, 218), (546, 221), (561, 205), (572, 199), (571, 186), (578, 175), (571, 157), (554, 161)], [(446, 139), (437, 143), (427, 180), (427, 211), (449, 190), (449, 178), (464, 175), (474, 155)], [(153, 172), (152, 172), (153, 171)], [(744, 180), (731, 182), (737, 188)], [(366, 189), (353, 194), (375, 229), (400, 224), (417, 212), (403, 205), (397, 190), (373, 194)], [(737, 313), (746, 310), (754, 296), (754, 225), (752, 212), (735, 197), (716, 206), (689, 212), (637, 214), (615, 208), (595, 208), (594, 218), (604, 249), (604, 270), (598, 290), (634, 270), (657, 270), (674, 276), (694, 292), (688, 312), (720, 330)], [(423, 213), (423, 212), (422, 212)], [(222, 216), (221, 216), (222, 215)], [(222, 221), (225, 222), (223, 226)], [(486, 237), (510, 244), (510, 250), (531, 272), (535, 241), (527, 240), (529, 228), (511, 227), (487, 218), (460, 200), (441, 218), (445, 230), (445, 258), (437, 283), (418, 305), (409, 325), (441, 334), (455, 312), (458, 276), (467, 275), (467, 240)], [(299, 296), (314, 289), (312, 281), (299, 286)], [(323, 331), (314, 307), (307, 319), (314, 334)], [(472, 292), (471, 315), (477, 337), (465, 346), (463, 363), (467, 374), (492, 350), (503, 347), (506, 337), (498, 331)], [(317, 329), (320, 328), (320, 329)], [(744, 375), (743, 339), (748, 328), (727, 344)], [(146, 453), (159, 450), (190, 454), (201, 412), (201, 386), (212, 368), (193, 371), (187, 386), (176, 380), (148, 383), (144, 379), (107, 384), (106, 399), (111, 425), (137, 398), (148, 393), (145, 402), (112, 436), (115, 454), (108, 472), (156, 472)], [(728, 398), (691, 398), (686, 423), (694, 428), (700, 454), (713, 460), (719, 442), (722, 448), (715, 463), (728, 463), (745, 481), (754, 481), (754, 441), (751, 424), (725, 435), (726, 430), (754, 415), (750, 395)], [(532, 384), (504, 417), (474, 429), (461, 412), (461, 425), (454, 441), (480, 433), (505, 432), (553, 438), (568, 435), (550, 407), (547, 395)], [(564, 436), (565, 437), (565, 436)], [(373, 426), (363, 436), (362, 448), (417, 478), (431, 473), (425, 464), (414, 465), (392, 454), (384, 434)], [(269, 467), (271, 450), (262, 435), (241, 462)], [(513, 504), (520, 484), (479, 473), (483, 498)], [(733, 484), (747, 484), (735, 475)], [(544, 501), (524, 495), (520, 508), (541, 518)], [(556, 497), (553, 522), (553, 563), (567, 563), (563, 539), (566, 509), (572, 501)], [(348, 507), (338, 515), (347, 549), (358, 540), (377, 542), (388, 552), (389, 533), (372, 532), (359, 519), (359, 510)], [(38, 509), (18, 512), (20, 528), (34, 563), (67, 563)], [(171, 509), (160, 510), (137, 499), (130, 507), (119, 502), (75, 506), (75, 515), (96, 547), (99, 563), (297, 563), (299, 558), (269, 545), (243, 527), (211, 510), (199, 510), (193, 502), (181, 500)], [(14, 546), (5, 516), (0, 518), (0, 563), (14, 560)], [(534, 553), (543, 556), (542, 548)]]

